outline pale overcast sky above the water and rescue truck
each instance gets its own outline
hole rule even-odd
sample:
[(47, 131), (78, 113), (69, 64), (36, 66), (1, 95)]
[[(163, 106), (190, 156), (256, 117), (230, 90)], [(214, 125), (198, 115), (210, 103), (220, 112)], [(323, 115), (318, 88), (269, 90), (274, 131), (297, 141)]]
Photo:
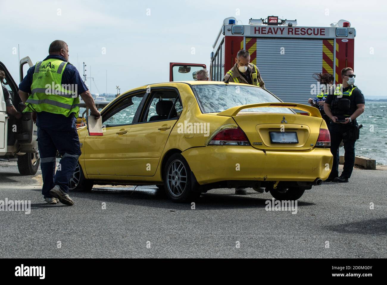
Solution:
[(250, 18), (274, 15), (297, 19), (298, 26), (327, 27), (340, 19), (349, 20), (356, 29), (356, 84), (366, 96), (387, 97), (380, 91), (380, 83), (386, 80), (387, 63), (385, 1), (0, 0), (0, 3), (0, 61), (17, 83), (19, 54), (14, 51), (18, 44), (20, 58), (28, 55), (35, 63), (48, 55), (51, 41), (64, 40), (69, 46), (69, 62), (80, 67), (80, 74), (82, 62), (88, 65), (87, 76), (91, 67), (92, 93), (104, 93), (106, 89), (108, 93), (116, 93), (116, 85), (122, 93), (137, 86), (169, 81), (169, 62), (205, 63), (208, 68), (212, 44), (224, 18), (233, 16), (248, 24)]

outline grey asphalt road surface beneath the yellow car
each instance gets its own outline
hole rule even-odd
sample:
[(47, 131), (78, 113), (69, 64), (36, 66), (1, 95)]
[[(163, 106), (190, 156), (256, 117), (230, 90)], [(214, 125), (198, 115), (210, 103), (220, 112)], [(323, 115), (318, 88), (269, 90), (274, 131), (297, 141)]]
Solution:
[(154, 186), (96, 186), (71, 192), (74, 206), (47, 205), (40, 169), (21, 176), (0, 162), (0, 200), (31, 200), (30, 214), (0, 211), (0, 257), (385, 258), (386, 174), (355, 169), (349, 183), (313, 187), (293, 214), (266, 211), (270, 193), (251, 188), (211, 190), (195, 209)]

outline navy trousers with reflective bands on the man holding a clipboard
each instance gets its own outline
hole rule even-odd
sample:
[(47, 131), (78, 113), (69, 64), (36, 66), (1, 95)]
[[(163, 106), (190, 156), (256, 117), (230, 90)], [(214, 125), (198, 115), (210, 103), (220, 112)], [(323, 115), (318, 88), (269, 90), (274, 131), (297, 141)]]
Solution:
[[(45, 198), (52, 197), (50, 190), (55, 185), (58, 185), (63, 192), (68, 193), (69, 181), (81, 154), (77, 129), (52, 131), (38, 128), (38, 147), (43, 176), (42, 194)], [(62, 155), (62, 158), (55, 173), (57, 151)]]

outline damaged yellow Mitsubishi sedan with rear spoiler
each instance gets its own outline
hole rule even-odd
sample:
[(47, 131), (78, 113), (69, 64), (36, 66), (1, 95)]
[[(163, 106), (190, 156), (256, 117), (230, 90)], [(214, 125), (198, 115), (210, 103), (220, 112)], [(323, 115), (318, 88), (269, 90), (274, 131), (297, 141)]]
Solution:
[(158, 185), (171, 200), (190, 202), (214, 188), (263, 187), (295, 200), (332, 166), (318, 109), (284, 103), (257, 86), (147, 85), (115, 98), (101, 115), (103, 136), (78, 129), (82, 155), (70, 190)]

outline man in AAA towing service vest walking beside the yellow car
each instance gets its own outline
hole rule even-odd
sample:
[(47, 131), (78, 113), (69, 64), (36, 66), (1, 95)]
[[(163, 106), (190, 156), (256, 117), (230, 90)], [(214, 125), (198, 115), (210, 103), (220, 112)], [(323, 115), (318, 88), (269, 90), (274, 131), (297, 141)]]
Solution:
[[(27, 71), (19, 85), (19, 96), (26, 104), (23, 113), (32, 112), (38, 126), (43, 197), (48, 204), (73, 205), (68, 185), (81, 154), (75, 124), (79, 113), (78, 95), (92, 115), (98, 118), (100, 114), (77, 69), (67, 62), (67, 43), (53, 41), (48, 53), (48, 57)], [(55, 173), (57, 151), (62, 159)]]

